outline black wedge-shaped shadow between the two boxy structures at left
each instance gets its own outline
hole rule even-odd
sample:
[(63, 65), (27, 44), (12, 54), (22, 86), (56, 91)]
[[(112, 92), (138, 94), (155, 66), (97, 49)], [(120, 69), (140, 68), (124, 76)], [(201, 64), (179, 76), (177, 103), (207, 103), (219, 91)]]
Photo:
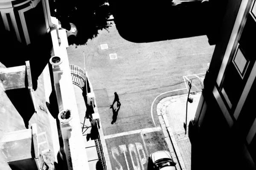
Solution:
[(6, 94), (20, 116), (22, 117), (25, 127), (29, 128), (29, 120), (35, 113), (35, 108), (29, 94), (28, 88), (19, 88), (6, 91)]

